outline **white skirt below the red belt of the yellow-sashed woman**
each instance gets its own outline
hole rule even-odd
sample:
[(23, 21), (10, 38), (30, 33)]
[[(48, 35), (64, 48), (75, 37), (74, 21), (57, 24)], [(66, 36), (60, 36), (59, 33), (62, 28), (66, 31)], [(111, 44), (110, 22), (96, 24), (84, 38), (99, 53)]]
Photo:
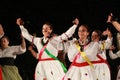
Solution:
[(64, 80), (110, 80), (110, 70), (106, 63), (93, 64), (90, 66), (71, 66)]

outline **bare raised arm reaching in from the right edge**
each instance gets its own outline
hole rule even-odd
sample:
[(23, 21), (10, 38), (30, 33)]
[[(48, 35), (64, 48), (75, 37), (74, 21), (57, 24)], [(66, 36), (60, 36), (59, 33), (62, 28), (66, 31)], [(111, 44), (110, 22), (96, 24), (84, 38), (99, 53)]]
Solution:
[(111, 23), (116, 28), (116, 30), (118, 30), (120, 32), (120, 23), (113, 20), (112, 13), (108, 16), (107, 23)]

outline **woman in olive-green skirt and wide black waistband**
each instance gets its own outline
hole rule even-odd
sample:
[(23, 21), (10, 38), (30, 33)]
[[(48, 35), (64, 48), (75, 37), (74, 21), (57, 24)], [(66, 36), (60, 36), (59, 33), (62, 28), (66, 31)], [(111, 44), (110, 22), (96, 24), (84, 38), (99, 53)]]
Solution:
[(24, 38), (22, 37), (21, 45), (9, 46), (8, 37), (3, 36), (0, 39), (0, 45), (0, 68), (2, 71), (0, 80), (22, 80), (18, 68), (14, 64), (14, 59), (26, 51)]

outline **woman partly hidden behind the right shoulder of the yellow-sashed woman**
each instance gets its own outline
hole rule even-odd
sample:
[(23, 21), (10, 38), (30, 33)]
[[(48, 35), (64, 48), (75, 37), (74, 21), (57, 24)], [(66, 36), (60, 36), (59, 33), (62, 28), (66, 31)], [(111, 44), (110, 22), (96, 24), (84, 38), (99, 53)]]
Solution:
[[(107, 38), (105, 40), (101, 40), (101, 37), (103, 35), (107, 35)], [(112, 35), (110, 35), (110, 30), (107, 28), (105, 31), (103, 31), (103, 34), (99, 30), (94, 30), (92, 32), (91, 39), (92, 41), (98, 41), (100, 47), (97, 57), (101, 59), (101, 62), (95, 69), (97, 76), (99, 75), (98, 80), (110, 80), (110, 68), (106, 56), (106, 50), (109, 49), (109, 47), (112, 45)]]

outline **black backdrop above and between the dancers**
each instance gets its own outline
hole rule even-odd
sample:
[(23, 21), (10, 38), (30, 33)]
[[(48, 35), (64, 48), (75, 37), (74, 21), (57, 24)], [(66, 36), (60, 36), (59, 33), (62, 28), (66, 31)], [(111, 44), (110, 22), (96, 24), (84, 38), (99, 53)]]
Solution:
[[(110, 13), (120, 19), (120, 0), (1, 0), (0, 23), (5, 34), (9, 36), (11, 45), (20, 43), (20, 29), (15, 24), (16, 18), (23, 18), (26, 28), (31, 34), (42, 36), (41, 28), (44, 22), (54, 25), (54, 32), (61, 34), (77, 17), (80, 24), (89, 25), (90, 29), (105, 30), (110, 24), (106, 23)], [(117, 32), (114, 27), (113, 32)], [(29, 42), (26, 41), (29, 45)], [(16, 59), (24, 80), (33, 80), (35, 60), (29, 51)]]

